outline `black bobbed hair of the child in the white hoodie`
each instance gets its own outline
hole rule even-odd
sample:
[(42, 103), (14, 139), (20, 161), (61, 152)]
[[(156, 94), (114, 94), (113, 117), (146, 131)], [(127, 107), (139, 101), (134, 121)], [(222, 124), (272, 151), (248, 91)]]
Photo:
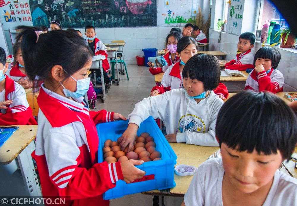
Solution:
[(221, 69), (219, 60), (210, 54), (195, 54), (183, 69), (183, 77), (203, 82), (204, 89), (211, 91), (218, 87)]

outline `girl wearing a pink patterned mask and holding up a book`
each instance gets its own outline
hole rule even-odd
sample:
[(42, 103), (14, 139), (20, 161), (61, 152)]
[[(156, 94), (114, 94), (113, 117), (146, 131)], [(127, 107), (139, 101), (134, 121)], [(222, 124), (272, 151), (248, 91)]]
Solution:
[(170, 32), (170, 34), (167, 35), (165, 42), (168, 53), (163, 56), (167, 62), (167, 65), (163, 67), (153, 67), (153, 63), (148, 62), (148, 65), (150, 66), (149, 71), (151, 74), (165, 72), (169, 66), (180, 61), (179, 57), (176, 55), (177, 42), (180, 38), (181, 34), (178, 32)]

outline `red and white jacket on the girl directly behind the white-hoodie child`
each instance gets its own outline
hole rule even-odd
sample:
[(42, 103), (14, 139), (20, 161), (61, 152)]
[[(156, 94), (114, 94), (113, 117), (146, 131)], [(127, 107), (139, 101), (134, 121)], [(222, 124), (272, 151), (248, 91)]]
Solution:
[[(154, 86), (151, 92), (156, 89), (159, 91), (159, 94), (162, 94), (172, 89), (184, 88), (182, 72), (180, 72), (179, 66), (180, 62), (171, 65), (168, 68), (168, 70), (164, 73), (164, 76), (161, 81), (161, 86)], [(214, 89), (214, 93), (217, 95), (222, 95), (225, 98), (229, 96), (228, 89), (223, 83), (219, 83), (219, 86), (216, 89)]]

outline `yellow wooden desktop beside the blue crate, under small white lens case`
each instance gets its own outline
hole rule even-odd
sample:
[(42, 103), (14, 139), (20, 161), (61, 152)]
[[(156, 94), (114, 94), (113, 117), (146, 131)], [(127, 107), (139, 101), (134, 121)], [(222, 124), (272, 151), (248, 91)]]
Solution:
[[(177, 155), (176, 165), (185, 164), (195, 167), (200, 166), (207, 158), (216, 152), (219, 147), (205, 147), (186, 143), (169, 143), (173, 151)], [(162, 195), (162, 196), (179, 196), (183, 197), (187, 192), (193, 176), (181, 177), (174, 174), (174, 181), (176, 186), (169, 191), (161, 192), (159, 190), (143, 192), (148, 195)]]

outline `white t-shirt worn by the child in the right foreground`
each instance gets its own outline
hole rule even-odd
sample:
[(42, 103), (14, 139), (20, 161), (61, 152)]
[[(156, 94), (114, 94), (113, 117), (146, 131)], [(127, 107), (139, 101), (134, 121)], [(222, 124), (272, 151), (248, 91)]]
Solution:
[[(184, 196), (185, 205), (223, 206), (222, 158), (206, 160), (196, 171)], [(263, 206), (297, 205), (297, 180), (277, 170)]]

